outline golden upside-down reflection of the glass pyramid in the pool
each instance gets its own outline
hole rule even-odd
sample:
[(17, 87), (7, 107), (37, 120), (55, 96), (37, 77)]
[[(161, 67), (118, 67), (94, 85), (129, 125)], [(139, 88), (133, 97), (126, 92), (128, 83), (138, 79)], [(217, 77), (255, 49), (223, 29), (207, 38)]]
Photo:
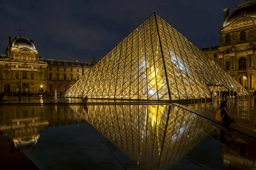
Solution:
[(146, 170), (175, 165), (214, 130), (201, 116), (169, 105), (70, 107)]

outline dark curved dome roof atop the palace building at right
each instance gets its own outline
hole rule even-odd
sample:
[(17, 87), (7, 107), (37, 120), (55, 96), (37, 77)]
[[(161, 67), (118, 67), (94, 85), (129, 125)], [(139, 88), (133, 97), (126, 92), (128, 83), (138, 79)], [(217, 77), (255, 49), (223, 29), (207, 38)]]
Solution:
[(229, 25), (239, 17), (256, 17), (256, 0), (249, 0), (237, 4), (235, 10), (224, 21), (223, 27)]

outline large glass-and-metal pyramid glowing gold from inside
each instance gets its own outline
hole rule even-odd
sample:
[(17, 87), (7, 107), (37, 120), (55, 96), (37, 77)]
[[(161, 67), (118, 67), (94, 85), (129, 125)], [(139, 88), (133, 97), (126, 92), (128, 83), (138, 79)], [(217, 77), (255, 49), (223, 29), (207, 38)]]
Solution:
[(179, 100), (210, 98), (209, 86), (248, 95), (235, 79), (157, 14), (84, 74), (64, 97)]

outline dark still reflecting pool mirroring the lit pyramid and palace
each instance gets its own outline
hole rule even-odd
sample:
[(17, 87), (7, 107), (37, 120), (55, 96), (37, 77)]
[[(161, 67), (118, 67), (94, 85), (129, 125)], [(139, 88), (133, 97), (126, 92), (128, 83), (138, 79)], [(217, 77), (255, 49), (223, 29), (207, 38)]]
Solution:
[(2, 106), (0, 131), (40, 169), (129, 169), (97, 133), (143, 170), (256, 168), (255, 142), (174, 105)]

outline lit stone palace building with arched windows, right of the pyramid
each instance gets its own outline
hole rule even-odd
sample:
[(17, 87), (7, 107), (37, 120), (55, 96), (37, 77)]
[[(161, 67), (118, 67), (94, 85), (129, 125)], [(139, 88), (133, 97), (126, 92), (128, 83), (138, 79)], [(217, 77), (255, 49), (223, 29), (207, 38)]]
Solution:
[(201, 48), (244, 88), (256, 89), (256, 0), (236, 4), (230, 14), (224, 8), (223, 28), (217, 46)]

